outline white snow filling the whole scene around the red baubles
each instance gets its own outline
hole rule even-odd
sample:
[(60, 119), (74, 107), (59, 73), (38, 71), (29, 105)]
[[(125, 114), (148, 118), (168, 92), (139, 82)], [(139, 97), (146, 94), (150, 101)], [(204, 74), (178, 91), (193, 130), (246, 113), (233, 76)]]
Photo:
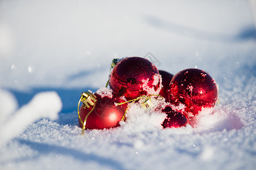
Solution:
[[(255, 5), (0, 1), (0, 169), (254, 169)], [(220, 103), (179, 129), (134, 103), (118, 128), (81, 135), (81, 92), (105, 86), (112, 59), (131, 56), (171, 74), (207, 71)]]

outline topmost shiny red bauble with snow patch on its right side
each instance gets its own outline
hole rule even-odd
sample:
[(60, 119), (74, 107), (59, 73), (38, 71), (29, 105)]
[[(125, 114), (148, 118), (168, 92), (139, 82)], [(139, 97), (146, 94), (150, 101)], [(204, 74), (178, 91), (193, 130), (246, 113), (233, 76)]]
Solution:
[(158, 69), (146, 58), (128, 57), (122, 59), (112, 70), (109, 86), (115, 96), (127, 100), (142, 95), (158, 95), (162, 79)]

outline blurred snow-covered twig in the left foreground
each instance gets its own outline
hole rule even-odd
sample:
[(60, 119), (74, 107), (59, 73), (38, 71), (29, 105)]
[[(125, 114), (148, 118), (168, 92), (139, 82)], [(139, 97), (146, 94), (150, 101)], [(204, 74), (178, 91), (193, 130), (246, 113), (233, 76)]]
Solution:
[[(4, 101), (2, 97), (6, 97), (6, 105), (1, 106), (1, 113), (5, 114), (5, 117), (1, 117), (5, 120), (0, 125), (0, 146), (15, 137), (15, 135), (21, 133), (29, 124), (39, 120), (40, 118), (49, 118), (56, 120), (59, 118), (58, 113), (61, 111), (62, 103), (59, 95), (56, 92), (42, 92), (34, 96), (34, 98), (24, 105), (18, 111), (14, 112), (15, 100), (7, 92), (0, 92), (1, 101)], [(5, 104), (5, 103), (3, 103)], [(9, 112), (6, 112), (9, 111)], [(11, 114), (14, 112), (13, 114)], [(3, 114), (4, 115), (4, 114)]]

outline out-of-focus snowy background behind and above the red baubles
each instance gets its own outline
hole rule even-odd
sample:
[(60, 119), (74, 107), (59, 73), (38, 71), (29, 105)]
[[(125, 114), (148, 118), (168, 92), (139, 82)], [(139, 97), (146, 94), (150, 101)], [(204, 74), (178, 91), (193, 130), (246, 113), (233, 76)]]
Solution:
[(241, 69), (255, 76), (255, 9), (233, 0), (1, 0), (0, 87), (20, 103), (49, 89), (79, 97), (105, 86), (113, 58), (148, 52), (159, 70), (197, 67), (225, 87)]

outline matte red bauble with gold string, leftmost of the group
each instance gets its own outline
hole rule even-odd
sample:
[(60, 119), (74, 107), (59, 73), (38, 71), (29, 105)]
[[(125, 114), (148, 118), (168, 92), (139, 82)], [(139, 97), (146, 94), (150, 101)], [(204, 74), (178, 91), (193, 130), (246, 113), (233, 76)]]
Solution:
[[(94, 94), (97, 97), (95, 103), (95, 108), (89, 114), (85, 129), (104, 129), (104, 128), (114, 128), (119, 126), (119, 121), (121, 121), (123, 114), (125, 113), (126, 104), (115, 105), (115, 103), (121, 103), (120, 99), (113, 99), (110, 97), (101, 97), (100, 95)], [(84, 121), (86, 115), (93, 108), (84, 108), (82, 104), (80, 108), (80, 117)], [(82, 128), (82, 122), (79, 120), (79, 125)]]

